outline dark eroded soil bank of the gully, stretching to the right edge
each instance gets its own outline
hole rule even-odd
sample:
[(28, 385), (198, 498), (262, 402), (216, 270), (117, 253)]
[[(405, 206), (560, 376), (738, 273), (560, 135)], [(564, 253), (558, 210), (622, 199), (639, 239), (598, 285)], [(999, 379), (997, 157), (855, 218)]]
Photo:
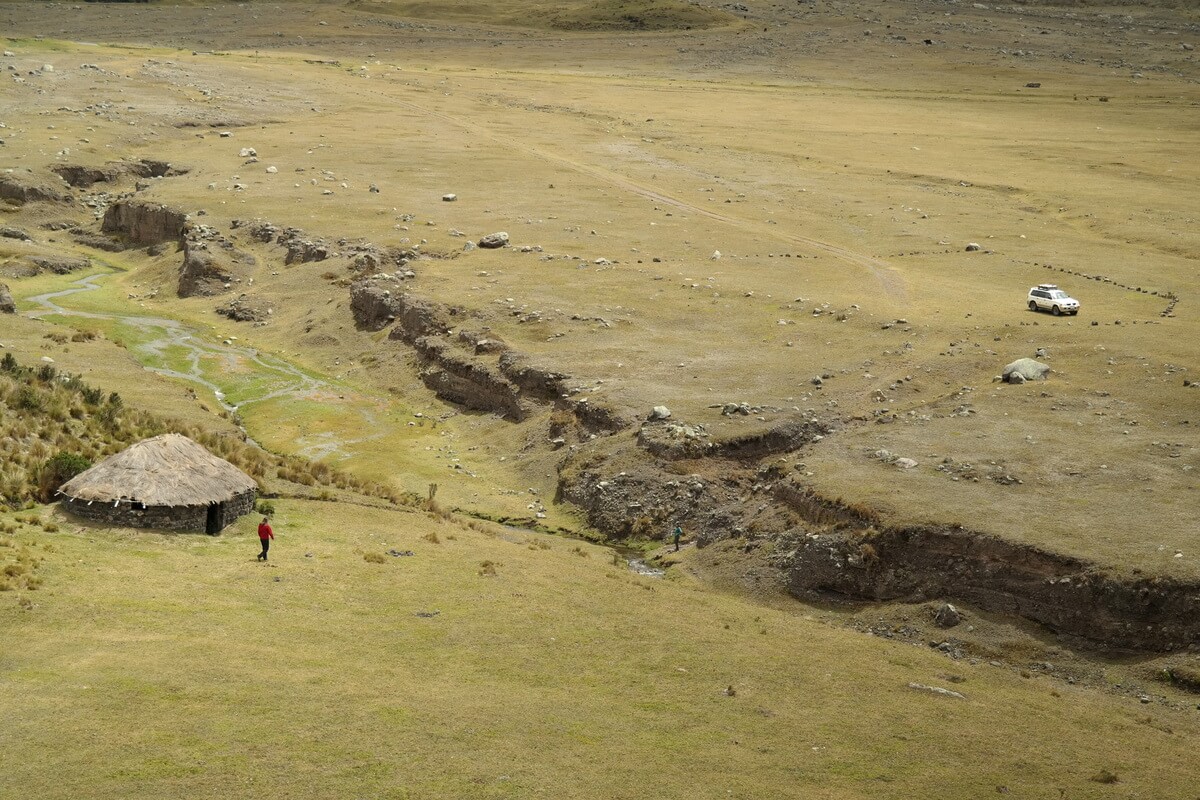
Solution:
[(800, 599), (950, 599), (1102, 648), (1172, 651), (1200, 643), (1200, 584), (1116, 576), (959, 527), (888, 528), (778, 468), (696, 458), (683, 475), (678, 463), (620, 439), (610, 440), (607, 457), (576, 456), (582, 463), (568, 459), (559, 474), (559, 498), (610, 536), (654, 536), (678, 522), (701, 547), (726, 539), (769, 546)]

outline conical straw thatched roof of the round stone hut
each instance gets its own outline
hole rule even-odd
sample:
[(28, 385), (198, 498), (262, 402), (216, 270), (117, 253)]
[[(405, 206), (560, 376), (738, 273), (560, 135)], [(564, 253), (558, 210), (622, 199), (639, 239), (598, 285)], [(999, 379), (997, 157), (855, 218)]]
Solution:
[(139, 441), (62, 485), (76, 500), (130, 500), (148, 506), (223, 503), (258, 488), (240, 469), (187, 437), (164, 433)]

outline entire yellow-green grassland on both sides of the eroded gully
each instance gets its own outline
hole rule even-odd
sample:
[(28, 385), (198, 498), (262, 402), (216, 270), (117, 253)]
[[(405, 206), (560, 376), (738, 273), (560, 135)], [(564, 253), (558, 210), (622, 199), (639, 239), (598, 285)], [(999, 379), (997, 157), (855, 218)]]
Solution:
[[(142, 197), (223, 233), (262, 218), (420, 245), (414, 291), (631, 415), (665, 403), (714, 437), (838, 421), (790, 465), (822, 494), (1200, 576), (1194, 11), (798, 4), (614, 34), (596, 29), (617, 4), (583, 32), (546, 30), (535, 4), (382, 5), (0, 4), (20, 78), (0, 86), (0, 167), (53, 180), (55, 163), (163, 158), (191, 172)], [(36, 241), (0, 239), (0, 260), (86, 254), (102, 288), (62, 306), (179, 320), (313, 381), (247, 402), (270, 371), (199, 359), (264, 445), (577, 524), (550, 503), (546, 420), (437, 401), (408, 349), (354, 329), (324, 277), (344, 259), (284, 266), (239, 240), (257, 264), (236, 291), (275, 308), (253, 327), (215, 315), (224, 297), (174, 296), (179, 253), (89, 251), (42, 228), (62, 217), (90, 211), (5, 206)], [(463, 251), (493, 230), (515, 247)], [(29, 312), (80, 275), (4, 281)], [(1046, 279), (1079, 317), (1025, 311)], [(104, 337), (46, 338), (61, 325)], [(0, 317), (23, 362), (232, 431), (211, 392), (142, 369), (190, 367), (157, 338)], [(1050, 381), (991, 383), (1038, 348)], [(763, 411), (710, 408), (730, 401)], [(44, 560), (41, 588), (0, 593), (0, 796), (1196, 794), (1178, 696), (1144, 705), (852, 633), (712, 591), (688, 559), (650, 581), (574, 541), (277, 507), (271, 566), (248, 519), (220, 539), (8, 523), (5, 564)], [(414, 555), (364, 558), (386, 549)]]

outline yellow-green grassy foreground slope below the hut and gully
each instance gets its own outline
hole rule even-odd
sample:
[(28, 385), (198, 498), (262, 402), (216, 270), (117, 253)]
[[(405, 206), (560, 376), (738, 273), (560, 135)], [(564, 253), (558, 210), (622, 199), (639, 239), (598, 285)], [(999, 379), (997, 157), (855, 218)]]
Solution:
[[(6, 537), (0, 554), (32, 549), (44, 583), (29, 607), (0, 595), (17, 645), (0, 660), (0, 796), (1195, 789), (1188, 711), (640, 577), (590, 545), (276, 509), (269, 565), (253, 519), (217, 539), (67, 519)], [(364, 558), (389, 549), (413, 555)]]

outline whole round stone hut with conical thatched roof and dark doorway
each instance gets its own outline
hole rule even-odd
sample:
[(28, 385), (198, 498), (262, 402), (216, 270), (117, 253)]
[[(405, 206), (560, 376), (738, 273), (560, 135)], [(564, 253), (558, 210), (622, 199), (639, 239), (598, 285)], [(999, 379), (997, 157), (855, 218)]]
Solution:
[(252, 477), (178, 433), (139, 441), (59, 488), (80, 517), (209, 534), (252, 511), (257, 492)]

